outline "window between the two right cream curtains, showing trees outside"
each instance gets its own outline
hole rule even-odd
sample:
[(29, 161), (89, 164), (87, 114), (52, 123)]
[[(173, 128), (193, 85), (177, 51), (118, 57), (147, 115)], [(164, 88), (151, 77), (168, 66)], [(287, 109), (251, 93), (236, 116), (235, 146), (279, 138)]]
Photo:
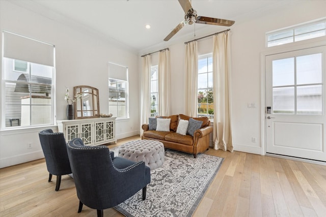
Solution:
[(212, 54), (198, 57), (198, 116), (214, 117), (213, 57)]

